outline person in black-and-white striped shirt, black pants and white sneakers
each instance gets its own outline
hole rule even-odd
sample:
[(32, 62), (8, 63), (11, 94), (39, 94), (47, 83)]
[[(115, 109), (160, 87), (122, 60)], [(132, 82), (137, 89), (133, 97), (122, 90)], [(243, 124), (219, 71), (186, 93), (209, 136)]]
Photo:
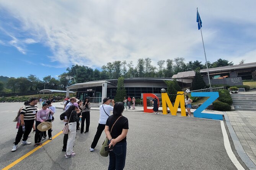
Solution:
[[(21, 111), (20, 111), (20, 127), (18, 130), (18, 133), (16, 135), (15, 143), (13, 146), (13, 149), (11, 149), (12, 152), (16, 151), (18, 147), (18, 143), (20, 142), (22, 135), (23, 135), (23, 140), (21, 145), (28, 145), (31, 144), (31, 142), (27, 142), (28, 135), (31, 132), (36, 116), (36, 112), (38, 111), (38, 106), (36, 104), (38, 103), (37, 98), (31, 98), (29, 100), (29, 104), (24, 106)], [(23, 132), (23, 126), (25, 127), (25, 131)]]

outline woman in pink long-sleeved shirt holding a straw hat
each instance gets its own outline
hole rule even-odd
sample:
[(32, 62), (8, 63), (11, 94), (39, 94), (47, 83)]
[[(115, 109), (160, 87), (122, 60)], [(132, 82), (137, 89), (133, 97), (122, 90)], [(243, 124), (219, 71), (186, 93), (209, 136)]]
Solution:
[(42, 145), (41, 143), (41, 131), (38, 130), (38, 125), (42, 122), (45, 122), (49, 118), (49, 114), (53, 115), (51, 109), (48, 108), (48, 104), (44, 103), (42, 109), (36, 113), (36, 134), (35, 134), (35, 144), (34, 146)]

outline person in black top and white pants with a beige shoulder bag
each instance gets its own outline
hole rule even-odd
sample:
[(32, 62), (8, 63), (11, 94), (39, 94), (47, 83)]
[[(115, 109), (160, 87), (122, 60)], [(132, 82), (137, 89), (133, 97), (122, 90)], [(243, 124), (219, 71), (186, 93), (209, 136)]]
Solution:
[(75, 105), (68, 107), (67, 111), (65, 112), (68, 118), (68, 141), (67, 141), (67, 151), (65, 154), (66, 158), (75, 156), (75, 152), (73, 152), (73, 145), (75, 142), (75, 135), (76, 135), (76, 128), (77, 128), (77, 121), (80, 119), (77, 117), (77, 110), (79, 108)]

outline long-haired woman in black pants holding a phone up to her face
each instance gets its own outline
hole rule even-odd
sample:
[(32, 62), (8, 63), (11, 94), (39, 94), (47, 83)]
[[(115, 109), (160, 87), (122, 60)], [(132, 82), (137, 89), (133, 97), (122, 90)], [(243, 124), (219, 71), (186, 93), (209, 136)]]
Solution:
[(89, 132), (89, 126), (90, 126), (90, 109), (91, 109), (91, 103), (89, 102), (89, 98), (85, 98), (83, 103), (81, 103), (81, 109), (82, 109), (82, 120), (81, 120), (81, 130), (80, 133), (83, 133), (85, 123), (85, 133)]

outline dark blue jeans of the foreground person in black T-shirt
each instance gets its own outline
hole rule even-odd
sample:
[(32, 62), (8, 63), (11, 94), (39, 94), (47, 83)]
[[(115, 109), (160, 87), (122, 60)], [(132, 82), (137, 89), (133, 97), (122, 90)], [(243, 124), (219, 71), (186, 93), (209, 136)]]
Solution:
[(126, 163), (126, 142), (117, 143), (113, 151), (109, 151), (108, 170), (122, 170)]

